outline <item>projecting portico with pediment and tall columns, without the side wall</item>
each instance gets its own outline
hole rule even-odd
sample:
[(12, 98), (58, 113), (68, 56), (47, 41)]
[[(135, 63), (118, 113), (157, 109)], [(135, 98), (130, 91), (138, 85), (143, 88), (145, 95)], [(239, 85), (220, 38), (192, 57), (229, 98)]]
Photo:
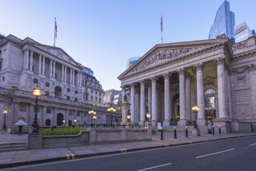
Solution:
[[(118, 77), (122, 96), (124, 89), (130, 92), (130, 121), (143, 125), (145, 114), (152, 113), (150, 120), (154, 126), (158, 121), (170, 126), (171, 118), (180, 126), (192, 125), (191, 106), (195, 104), (200, 108), (199, 126), (206, 125), (209, 116), (228, 121), (229, 91), (225, 75), (230, 60), (228, 43), (226, 38), (219, 38), (154, 46)], [(207, 89), (214, 89), (218, 95), (205, 104), (206, 92), (210, 91)], [(206, 116), (206, 105), (214, 114)]]

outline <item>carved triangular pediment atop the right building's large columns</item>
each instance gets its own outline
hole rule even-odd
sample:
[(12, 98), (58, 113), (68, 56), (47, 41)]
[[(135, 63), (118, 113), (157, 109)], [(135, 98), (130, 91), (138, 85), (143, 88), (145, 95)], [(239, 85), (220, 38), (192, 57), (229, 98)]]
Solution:
[(227, 42), (227, 39), (210, 39), (156, 45), (118, 78), (122, 79), (127, 75), (135, 74), (142, 70), (149, 70), (155, 66), (161, 66), (166, 62), (177, 62), (182, 59), (183, 56), (196, 54), (197, 52), (209, 49), (223, 42)]

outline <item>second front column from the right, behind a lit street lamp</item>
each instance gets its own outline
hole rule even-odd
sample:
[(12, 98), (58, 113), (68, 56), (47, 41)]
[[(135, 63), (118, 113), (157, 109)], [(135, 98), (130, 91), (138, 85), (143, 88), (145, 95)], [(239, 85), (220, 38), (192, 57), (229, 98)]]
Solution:
[(202, 64), (197, 66), (197, 100), (198, 100), (198, 125), (206, 125), (205, 120), (205, 99), (203, 94)]

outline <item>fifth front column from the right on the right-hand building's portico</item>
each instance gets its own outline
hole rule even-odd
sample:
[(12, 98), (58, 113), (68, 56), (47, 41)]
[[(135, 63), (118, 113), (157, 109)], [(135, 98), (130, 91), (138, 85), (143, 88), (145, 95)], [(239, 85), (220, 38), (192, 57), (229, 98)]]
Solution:
[(157, 78), (151, 79), (152, 85), (152, 125), (156, 126), (158, 122), (158, 97), (157, 97)]

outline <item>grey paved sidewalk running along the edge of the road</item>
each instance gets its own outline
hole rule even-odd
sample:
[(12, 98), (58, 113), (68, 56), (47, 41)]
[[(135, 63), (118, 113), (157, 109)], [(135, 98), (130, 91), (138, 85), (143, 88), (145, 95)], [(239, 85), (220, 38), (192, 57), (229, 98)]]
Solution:
[[(200, 137), (191, 137), (190, 135), (189, 137), (185, 137), (185, 133), (178, 132), (177, 139), (174, 139), (174, 134), (171, 132), (164, 132), (163, 135), (164, 140), (160, 140), (160, 132), (158, 132), (153, 135), (152, 141), (135, 141), (106, 145), (85, 145), (69, 148), (4, 152), (0, 155), (0, 168), (36, 164), (47, 161), (66, 160), (66, 154), (69, 154), (70, 158), (72, 158), (71, 154), (74, 155), (74, 158), (91, 157), (111, 153), (125, 153), (140, 149), (154, 149), (172, 145), (186, 145), (203, 141), (215, 141), (232, 137), (256, 136), (256, 133), (202, 134)], [(2, 139), (2, 135), (0, 135), (0, 139)]]

